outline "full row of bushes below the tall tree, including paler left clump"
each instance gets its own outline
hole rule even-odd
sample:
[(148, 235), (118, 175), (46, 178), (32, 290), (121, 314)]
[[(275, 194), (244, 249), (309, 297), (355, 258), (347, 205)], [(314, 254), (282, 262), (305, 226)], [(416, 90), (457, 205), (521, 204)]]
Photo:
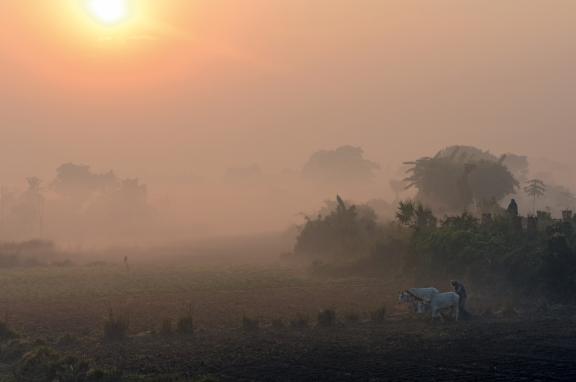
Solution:
[(461, 279), (475, 288), (576, 301), (575, 218), (521, 218), (500, 209), (481, 219), (467, 212), (438, 219), (407, 201), (398, 207), (397, 222), (383, 225), (338, 202), (328, 215), (308, 219), (298, 237), (296, 252), (314, 259), (316, 273), (377, 276), (386, 270), (421, 284)]

